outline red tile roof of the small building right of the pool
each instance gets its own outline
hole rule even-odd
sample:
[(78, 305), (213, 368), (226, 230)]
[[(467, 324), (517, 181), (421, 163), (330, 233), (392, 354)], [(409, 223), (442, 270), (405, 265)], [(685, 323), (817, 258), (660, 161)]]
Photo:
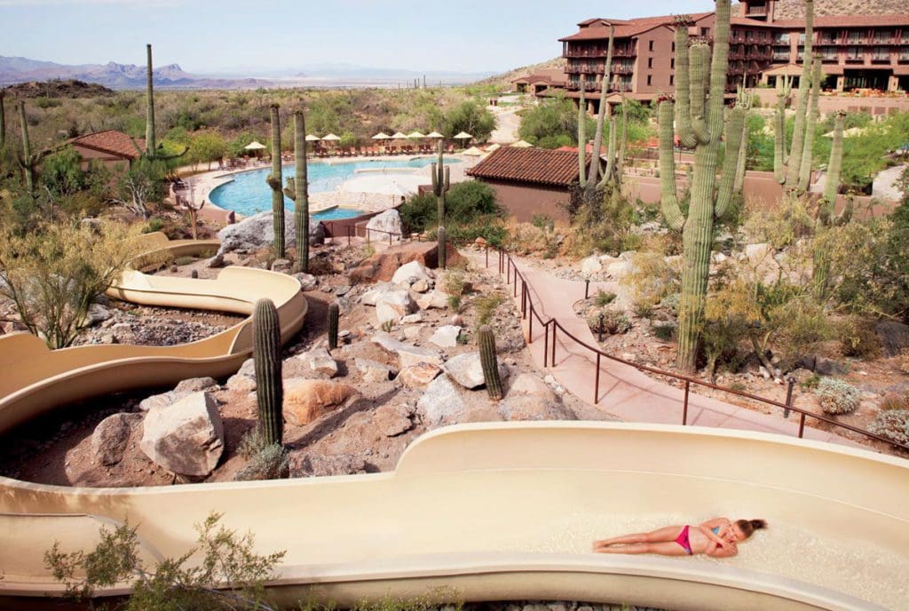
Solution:
[(503, 146), (467, 170), (475, 178), (568, 186), (577, 181), (577, 153)]

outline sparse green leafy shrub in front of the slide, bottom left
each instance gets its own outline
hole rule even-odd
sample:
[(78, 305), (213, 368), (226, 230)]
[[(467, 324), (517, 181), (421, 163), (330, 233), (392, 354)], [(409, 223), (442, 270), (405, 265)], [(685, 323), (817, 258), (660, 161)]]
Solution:
[[(210, 514), (196, 525), (195, 549), (166, 558), (154, 568), (145, 566), (136, 528), (129, 524), (113, 531), (102, 526), (101, 542), (87, 553), (63, 552), (55, 542), (45, 552), (45, 566), (65, 583), (66, 596), (88, 599), (90, 604), (96, 588), (132, 582), (132, 596), (115, 609), (274, 609), (265, 600), (265, 581), (275, 577), (275, 566), (285, 552), (257, 554), (252, 534), (237, 536), (218, 526), (221, 516)], [(201, 561), (188, 566), (196, 554), (202, 555)]]

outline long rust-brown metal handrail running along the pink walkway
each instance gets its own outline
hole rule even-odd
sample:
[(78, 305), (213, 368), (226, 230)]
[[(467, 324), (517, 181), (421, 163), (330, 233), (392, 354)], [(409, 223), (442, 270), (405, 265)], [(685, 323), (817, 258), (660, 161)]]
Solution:
[[(486, 246), (487, 251), (488, 251), (488, 248), (489, 248), (489, 246), (487, 245)], [(800, 415), (799, 426), (798, 426), (798, 437), (800, 439), (804, 437), (805, 420), (806, 420), (806, 418), (808, 418), (810, 416), (810, 417), (816, 418), (817, 420), (820, 420), (821, 422), (825, 422), (828, 425), (836, 426), (839, 428), (844, 428), (845, 430), (852, 431), (853, 433), (857, 433), (859, 435), (868, 437), (870, 439), (874, 439), (875, 441), (880, 441), (880, 442), (883, 442), (890, 446), (894, 446), (901, 450), (909, 452), (909, 445), (901, 444), (898, 441), (894, 441), (893, 439), (887, 439), (884, 436), (879, 436), (875, 433), (872, 433), (871, 431), (865, 430), (864, 428), (859, 428), (857, 426), (847, 425), (843, 422), (838, 422), (829, 416), (824, 416), (823, 414), (817, 414), (815, 412), (804, 410), (801, 407), (794, 406), (793, 401), (792, 401), (792, 392), (791, 392), (792, 382), (790, 382), (790, 392), (787, 393), (787, 402), (781, 403), (774, 399), (768, 399), (764, 396), (753, 395), (752, 393), (745, 393), (740, 390), (735, 390), (734, 388), (728, 388), (726, 386), (717, 386), (715, 384), (711, 384), (710, 382), (704, 382), (704, 380), (699, 380), (694, 377), (683, 376), (681, 374), (675, 374), (673, 372), (664, 371), (662, 369), (657, 369), (655, 367), (639, 365), (637, 363), (627, 361), (624, 358), (620, 358), (618, 356), (613, 356), (607, 352), (604, 352), (603, 350), (601, 350), (598, 347), (590, 346), (583, 340), (578, 339), (577, 337), (572, 335), (572, 333), (569, 332), (564, 326), (560, 325), (556, 319), (550, 317), (549, 320), (546, 320), (546, 321), (543, 320), (543, 317), (540, 316), (536, 312), (536, 308), (534, 307), (534, 302), (530, 298), (529, 290), (526, 288), (527, 286), (529, 286), (529, 284), (527, 283), (526, 278), (524, 278), (524, 275), (517, 268), (517, 265), (514, 264), (514, 260), (512, 259), (512, 256), (508, 253), (505, 253), (501, 248), (496, 248), (496, 250), (499, 253), (499, 274), (505, 275), (506, 282), (509, 285), (511, 285), (514, 282), (514, 295), (515, 296), (517, 295), (517, 281), (518, 281), (518, 279), (521, 280), (521, 283), (523, 286), (522, 287), (522, 313), (523, 313), (523, 316), (525, 317), (526, 312), (529, 311), (530, 321), (531, 321), (530, 332), (528, 333), (528, 340), (527, 340), (528, 344), (532, 344), (534, 342), (534, 335), (533, 335), (534, 317), (540, 322), (541, 325), (544, 326), (545, 330), (544, 330), (543, 366), (547, 367), (547, 366), (555, 365), (555, 344), (556, 344), (555, 338), (556, 338), (556, 332), (559, 329), (562, 330), (564, 335), (566, 335), (566, 336), (570, 337), (572, 340), (574, 340), (574, 343), (576, 343), (580, 346), (584, 346), (584, 348), (587, 348), (588, 350), (590, 350), (591, 352), (593, 352), (596, 355), (596, 376), (595, 376), (595, 380), (594, 380), (594, 405), (599, 403), (600, 362), (601, 362), (602, 357), (606, 357), (617, 363), (622, 363), (623, 365), (627, 365), (627, 366), (633, 366), (638, 371), (650, 372), (657, 376), (667, 376), (667, 377), (671, 377), (676, 380), (679, 380), (680, 382), (684, 382), (684, 401), (683, 401), (683, 412), (682, 412), (682, 425), (683, 426), (686, 426), (688, 424), (687, 423), (688, 395), (689, 395), (691, 385), (694, 384), (694, 385), (704, 386), (707, 388), (712, 388), (714, 390), (718, 390), (718, 391), (721, 391), (724, 393), (729, 393), (734, 396), (742, 396), (744, 398), (751, 399), (754, 401), (759, 401), (761, 403), (764, 403), (764, 404), (767, 404), (770, 406), (781, 407), (786, 411), (786, 413), (788, 413), (788, 411), (790, 411), (790, 410), (796, 412), (797, 414)], [(488, 262), (489, 262), (489, 259), (488, 259), (488, 253), (487, 253), (487, 256), (486, 256), (486, 266), (487, 267), (489, 266)], [(504, 270), (503, 270), (503, 267), (504, 267)], [(512, 273), (512, 270), (514, 270), (514, 273)], [(550, 344), (550, 340), (549, 340), (549, 327), (550, 326), (553, 327), (553, 333), (552, 333), (553, 337), (552, 337), (551, 344)]]

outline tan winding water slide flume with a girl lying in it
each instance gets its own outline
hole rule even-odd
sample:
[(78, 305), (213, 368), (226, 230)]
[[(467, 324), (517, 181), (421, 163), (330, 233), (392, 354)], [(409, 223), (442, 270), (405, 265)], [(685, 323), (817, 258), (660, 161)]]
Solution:
[[(289, 333), (305, 314), (290, 281), (226, 268), (213, 281), (135, 275), (120, 290), (129, 300), (151, 300), (142, 303), (236, 312), (270, 296)], [(204, 342), (136, 355), (86, 353), (107, 359), (92, 361), (57, 359), (22, 336), (0, 339), (0, 348), (13, 341), (29, 348), (20, 354), (30, 363), (19, 366), (0, 350), (0, 430), (86, 393), (112, 392), (125, 380), (142, 384), (152, 379), (144, 366), (154, 371), (173, 360), (182, 377), (239, 366), (248, 354), (247, 327), (221, 334), (229, 339), (218, 340), (220, 360), (196, 347)], [(215, 338), (205, 341), (215, 346)], [(118, 363), (125, 369), (112, 376)], [(204, 374), (206, 365), (212, 368)], [(39, 366), (47, 368), (29, 371)], [(32, 377), (14, 383), (10, 371)], [(10, 394), (15, 385), (22, 387)], [(10, 406), (15, 414), (6, 416)], [(591, 422), (446, 427), (408, 447), (395, 472), (365, 476), (121, 489), (0, 478), (0, 608), (35, 608), (35, 596), (62, 592), (43, 563), (55, 540), (85, 549), (99, 526), (127, 519), (154, 562), (184, 554), (195, 543), (194, 525), (212, 511), (224, 513), (225, 526), (253, 532), (261, 552), (286, 550), (268, 586), (289, 606), (314, 595), (344, 605), (444, 587), (463, 600), (675, 610), (909, 608), (907, 482), (906, 461), (861, 449), (744, 431)], [(771, 527), (723, 562), (589, 552), (593, 538), (642, 519), (716, 515), (764, 517)], [(855, 572), (874, 578), (824, 565), (854, 549), (870, 559)]]

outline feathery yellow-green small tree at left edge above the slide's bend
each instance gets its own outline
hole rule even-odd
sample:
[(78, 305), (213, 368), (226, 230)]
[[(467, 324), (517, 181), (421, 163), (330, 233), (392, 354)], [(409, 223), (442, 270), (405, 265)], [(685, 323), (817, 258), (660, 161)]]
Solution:
[(0, 230), (0, 296), (50, 348), (71, 346), (88, 309), (139, 254), (137, 229), (44, 222), (35, 231)]

